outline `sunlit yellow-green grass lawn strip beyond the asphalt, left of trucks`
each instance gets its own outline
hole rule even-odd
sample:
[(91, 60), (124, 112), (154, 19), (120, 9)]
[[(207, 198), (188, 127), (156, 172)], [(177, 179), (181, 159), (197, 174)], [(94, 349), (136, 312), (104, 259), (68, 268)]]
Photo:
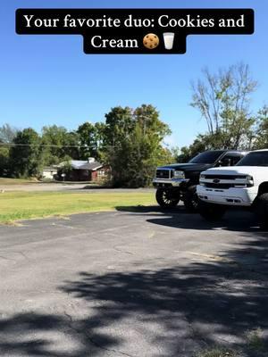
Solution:
[(155, 204), (155, 198), (150, 192), (5, 192), (0, 194), (0, 222), (151, 204)]

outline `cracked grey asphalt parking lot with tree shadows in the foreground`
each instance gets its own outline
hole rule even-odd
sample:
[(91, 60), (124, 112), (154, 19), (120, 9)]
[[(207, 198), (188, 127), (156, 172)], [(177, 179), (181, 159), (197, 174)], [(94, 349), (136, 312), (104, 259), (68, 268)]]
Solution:
[(267, 356), (267, 232), (245, 212), (131, 211), (0, 227), (0, 355)]

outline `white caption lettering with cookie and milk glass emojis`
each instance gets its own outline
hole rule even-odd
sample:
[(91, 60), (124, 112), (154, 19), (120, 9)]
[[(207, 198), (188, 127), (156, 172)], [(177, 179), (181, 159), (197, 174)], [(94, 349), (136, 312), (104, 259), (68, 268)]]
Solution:
[[(163, 14), (155, 18), (138, 18), (129, 14), (125, 19), (113, 18), (103, 14), (99, 18), (84, 17), (78, 18), (71, 16), (70, 13), (66, 13), (61, 19), (59, 18), (38, 18), (36, 15), (24, 14), (24, 21), (26, 28), (34, 27), (38, 28), (67, 28), (67, 29), (154, 29), (155, 27), (174, 31), (181, 28), (213, 28), (215, 26), (214, 18), (203, 17), (200, 15), (191, 16), (190, 14), (173, 18), (167, 14)], [(226, 22), (223, 21), (222, 24), (218, 23), (218, 26), (226, 27)], [(243, 15), (237, 21), (236, 26), (244, 26)], [(159, 32), (155, 33), (145, 33), (143, 37), (143, 46), (149, 50), (154, 50), (161, 44), (161, 38), (163, 39), (163, 45), (166, 50), (172, 50), (174, 45), (174, 38), (176, 36), (175, 32), (163, 31), (161, 35)], [(153, 31), (152, 31), (153, 32)], [(158, 32), (158, 33), (157, 33)], [(138, 48), (140, 42), (138, 38), (104, 38), (101, 35), (94, 35), (90, 39), (90, 46), (94, 48)], [(88, 44), (89, 45), (89, 44)]]

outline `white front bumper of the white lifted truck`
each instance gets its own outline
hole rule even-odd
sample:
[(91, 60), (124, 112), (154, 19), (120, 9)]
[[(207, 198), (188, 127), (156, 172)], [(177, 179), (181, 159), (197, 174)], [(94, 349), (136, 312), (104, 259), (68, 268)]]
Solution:
[(228, 189), (207, 188), (197, 186), (197, 195), (207, 203), (225, 204), (230, 206), (251, 206), (257, 195), (256, 187), (231, 187)]

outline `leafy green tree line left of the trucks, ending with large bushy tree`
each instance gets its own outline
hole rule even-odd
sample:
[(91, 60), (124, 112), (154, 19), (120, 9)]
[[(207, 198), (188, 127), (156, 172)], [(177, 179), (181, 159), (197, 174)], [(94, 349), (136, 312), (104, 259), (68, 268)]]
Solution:
[(135, 110), (114, 107), (104, 122), (85, 122), (76, 130), (45, 126), (34, 129), (0, 128), (0, 176), (39, 177), (46, 166), (73, 160), (96, 160), (112, 169), (114, 187), (144, 187), (155, 167), (173, 162), (174, 155), (164, 147), (171, 133), (152, 105)]

